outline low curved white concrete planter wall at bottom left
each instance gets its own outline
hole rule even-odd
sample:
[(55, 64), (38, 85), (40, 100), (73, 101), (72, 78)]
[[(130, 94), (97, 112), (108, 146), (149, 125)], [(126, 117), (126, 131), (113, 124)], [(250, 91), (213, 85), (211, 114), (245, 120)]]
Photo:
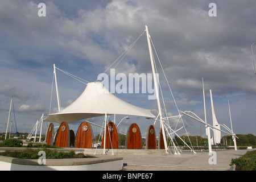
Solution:
[(108, 155), (82, 159), (46, 159), (45, 165), (40, 165), (37, 159), (0, 156), (1, 171), (118, 171), (122, 167), (123, 158)]

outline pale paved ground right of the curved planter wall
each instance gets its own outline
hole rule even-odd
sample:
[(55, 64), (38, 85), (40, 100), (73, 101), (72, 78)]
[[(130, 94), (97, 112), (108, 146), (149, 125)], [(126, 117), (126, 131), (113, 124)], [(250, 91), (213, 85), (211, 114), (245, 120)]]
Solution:
[[(125, 170), (147, 171), (222, 171), (230, 169), (232, 158), (239, 158), (248, 150), (218, 150), (209, 155), (208, 151), (196, 151), (196, 154), (183, 150), (180, 155), (120, 155), (123, 158)], [(216, 156), (216, 158), (215, 158)]]

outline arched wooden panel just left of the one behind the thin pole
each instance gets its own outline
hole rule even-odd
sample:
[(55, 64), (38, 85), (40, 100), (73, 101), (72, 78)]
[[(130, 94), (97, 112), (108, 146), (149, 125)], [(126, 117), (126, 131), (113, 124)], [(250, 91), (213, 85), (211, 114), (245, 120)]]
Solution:
[(92, 129), (86, 121), (77, 130), (75, 148), (92, 148)]

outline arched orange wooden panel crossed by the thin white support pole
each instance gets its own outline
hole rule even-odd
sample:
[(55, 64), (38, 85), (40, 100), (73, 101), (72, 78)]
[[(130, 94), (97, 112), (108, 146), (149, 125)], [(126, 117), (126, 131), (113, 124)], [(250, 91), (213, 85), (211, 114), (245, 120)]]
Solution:
[[(118, 131), (117, 127), (115, 127), (115, 124), (113, 122), (109, 122), (107, 125), (107, 133), (106, 133), (106, 146), (105, 148), (112, 148), (113, 149), (118, 149), (119, 148), (119, 143), (118, 143)], [(105, 132), (105, 131), (104, 131)], [(104, 135), (102, 137), (102, 142), (101, 142), (101, 148), (104, 148)], [(110, 139), (112, 141), (112, 147), (110, 143)]]

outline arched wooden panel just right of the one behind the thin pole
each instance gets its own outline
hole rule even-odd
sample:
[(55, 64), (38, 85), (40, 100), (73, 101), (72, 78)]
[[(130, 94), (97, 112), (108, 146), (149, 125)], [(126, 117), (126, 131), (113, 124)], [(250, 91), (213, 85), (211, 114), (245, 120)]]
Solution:
[(141, 131), (137, 124), (133, 123), (128, 129), (126, 138), (127, 149), (141, 149)]

